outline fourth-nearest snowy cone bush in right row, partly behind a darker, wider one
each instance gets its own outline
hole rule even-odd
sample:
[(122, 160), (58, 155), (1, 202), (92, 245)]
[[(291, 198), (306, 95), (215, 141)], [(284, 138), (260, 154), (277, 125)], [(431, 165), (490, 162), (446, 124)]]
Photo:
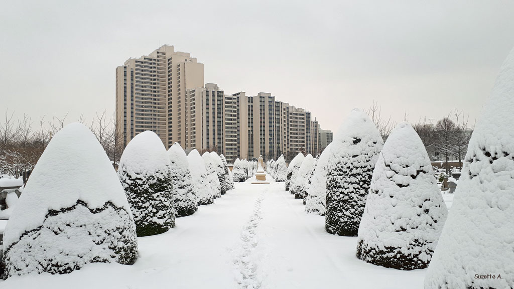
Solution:
[(330, 143), (320, 155), (313, 177), (310, 180), (310, 186), (307, 189), (305, 197), (305, 211), (307, 213), (316, 213), (321, 216), (325, 215), (326, 200), (326, 166), (328, 159), (332, 156), (330, 151)]

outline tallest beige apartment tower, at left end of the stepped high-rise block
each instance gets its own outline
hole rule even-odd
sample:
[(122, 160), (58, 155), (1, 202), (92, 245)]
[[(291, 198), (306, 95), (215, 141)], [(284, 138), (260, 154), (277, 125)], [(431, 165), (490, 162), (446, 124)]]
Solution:
[(116, 118), (123, 120), (124, 145), (155, 132), (166, 148), (185, 141), (186, 90), (204, 85), (204, 64), (163, 45), (116, 68)]

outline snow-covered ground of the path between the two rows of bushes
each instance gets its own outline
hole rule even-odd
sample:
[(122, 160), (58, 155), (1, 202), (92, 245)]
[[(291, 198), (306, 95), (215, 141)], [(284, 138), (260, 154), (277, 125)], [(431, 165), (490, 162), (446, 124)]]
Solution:
[[(358, 260), (357, 237), (326, 233), (324, 217), (305, 213), (284, 183), (254, 185), (252, 179), (177, 218), (168, 232), (138, 238), (140, 257), (132, 266), (96, 263), (65, 275), (14, 276), (0, 288), (423, 287), (426, 269)], [(453, 194), (444, 198), (450, 207)]]

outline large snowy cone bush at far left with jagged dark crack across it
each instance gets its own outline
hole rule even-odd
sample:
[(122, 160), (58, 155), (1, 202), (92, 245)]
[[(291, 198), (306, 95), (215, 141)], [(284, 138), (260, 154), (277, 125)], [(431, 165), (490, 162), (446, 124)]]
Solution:
[(41, 155), (7, 223), (3, 251), (7, 277), (137, 259), (136, 226), (123, 188), (82, 123), (59, 131)]

